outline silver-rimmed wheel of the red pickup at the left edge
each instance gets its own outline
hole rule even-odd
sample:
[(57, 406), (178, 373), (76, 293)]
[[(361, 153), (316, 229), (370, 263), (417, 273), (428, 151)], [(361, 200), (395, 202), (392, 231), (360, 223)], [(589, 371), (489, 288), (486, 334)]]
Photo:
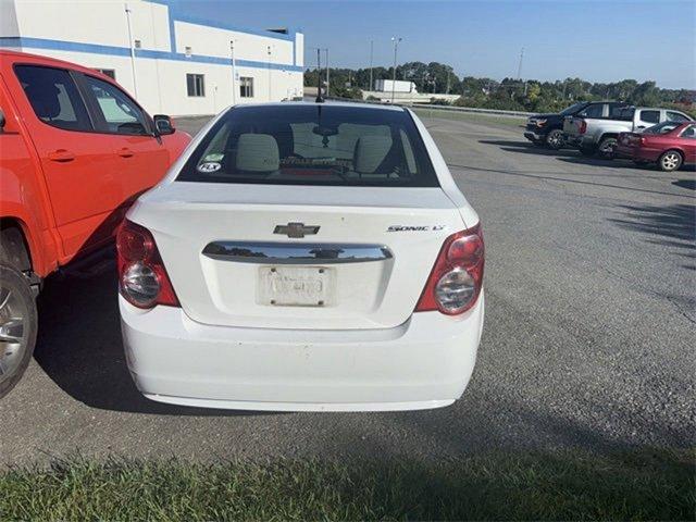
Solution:
[(38, 314), (29, 279), (0, 264), (0, 398), (24, 374), (36, 345)]

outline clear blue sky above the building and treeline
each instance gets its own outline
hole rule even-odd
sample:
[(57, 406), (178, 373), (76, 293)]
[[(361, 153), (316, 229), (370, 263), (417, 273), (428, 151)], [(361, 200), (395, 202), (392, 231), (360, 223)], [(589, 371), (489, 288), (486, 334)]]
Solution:
[(290, 27), (312, 48), (330, 49), (332, 66), (442, 62), (461, 76), (589, 82), (652, 79), (663, 88), (696, 88), (694, 0), (490, 1), (187, 1), (190, 14), (249, 28)]

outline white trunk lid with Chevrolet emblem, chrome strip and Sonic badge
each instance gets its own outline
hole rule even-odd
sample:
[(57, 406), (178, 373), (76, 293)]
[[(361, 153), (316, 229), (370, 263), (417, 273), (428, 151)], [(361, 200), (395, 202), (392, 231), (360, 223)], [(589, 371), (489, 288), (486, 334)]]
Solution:
[(152, 232), (192, 320), (272, 328), (403, 323), (445, 238), (465, 228), (440, 188), (406, 187), (177, 182), (130, 219)]

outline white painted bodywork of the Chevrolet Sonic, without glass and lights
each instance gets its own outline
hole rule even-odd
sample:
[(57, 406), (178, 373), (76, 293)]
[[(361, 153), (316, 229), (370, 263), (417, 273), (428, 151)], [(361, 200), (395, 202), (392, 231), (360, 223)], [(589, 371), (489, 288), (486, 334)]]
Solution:
[[(138, 199), (127, 219), (152, 233), (181, 302), (140, 310), (120, 297), (128, 368), (147, 397), (211, 408), (373, 411), (436, 408), (461, 396), (483, 327), (483, 291), (460, 315), (413, 310), (445, 239), (478, 216), (409, 113), (440, 187), (176, 182), (213, 121)], [(274, 234), (296, 222), (320, 229), (302, 238)], [(224, 241), (359, 244), (390, 256), (302, 263), (331, 274), (332, 298), (277, 306), (263, 300), (260, 286), (272, 263), (203, 252)]]

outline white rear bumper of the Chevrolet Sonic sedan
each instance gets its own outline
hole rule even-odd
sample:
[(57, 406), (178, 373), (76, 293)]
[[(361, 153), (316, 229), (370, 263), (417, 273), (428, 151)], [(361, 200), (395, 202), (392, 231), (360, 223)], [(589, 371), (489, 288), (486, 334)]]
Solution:
[(463, 393), (483, 326), (483, 294), (461, 318), (415, 313), (395, 328), (308, 331), (196, 323), (178, 308), (120, 299), (128, 369), (148, 398), (275, 411), (413, 410)]

